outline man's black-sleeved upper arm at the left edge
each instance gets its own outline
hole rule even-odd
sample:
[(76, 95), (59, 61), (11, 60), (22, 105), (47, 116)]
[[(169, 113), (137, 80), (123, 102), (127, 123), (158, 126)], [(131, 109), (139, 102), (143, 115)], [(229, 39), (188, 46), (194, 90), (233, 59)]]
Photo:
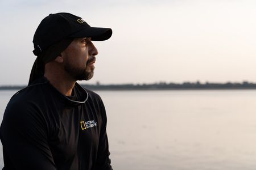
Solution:
[(5, 170), (56, 170), (47, 142), (47, 128), (35, 107), (7, 106), (0, 133)]

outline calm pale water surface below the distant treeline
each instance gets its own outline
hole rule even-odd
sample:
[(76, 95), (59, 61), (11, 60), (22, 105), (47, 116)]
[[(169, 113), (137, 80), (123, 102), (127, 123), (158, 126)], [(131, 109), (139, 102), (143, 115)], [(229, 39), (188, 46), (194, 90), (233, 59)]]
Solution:
[[(97, 93), (114, 169), (256, 168), (255, 90)], [(0, 91), (1, 114), (12, 94)]]

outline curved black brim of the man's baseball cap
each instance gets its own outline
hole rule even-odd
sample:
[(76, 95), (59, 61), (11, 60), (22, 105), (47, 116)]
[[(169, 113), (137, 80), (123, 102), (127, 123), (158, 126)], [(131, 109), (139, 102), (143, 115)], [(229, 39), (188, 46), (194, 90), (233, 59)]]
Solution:
[(108, 40), (112, 36), (111, 28), (88, 27), (79, 32), (73, 33), (69, 37), (91, 37), (92, 41)]

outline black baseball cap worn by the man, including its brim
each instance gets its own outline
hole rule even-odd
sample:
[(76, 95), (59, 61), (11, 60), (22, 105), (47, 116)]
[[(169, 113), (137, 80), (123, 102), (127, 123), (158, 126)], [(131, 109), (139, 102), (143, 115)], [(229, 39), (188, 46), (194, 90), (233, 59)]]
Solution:
[(36, 29), (33, 53), (38, 56), (49, 46), (66, 38), (91, 37), (92, 41), (104, 41), (111, 36), (111, 28), (90, 27), (79, 16), (65, 12), (49, 14)]

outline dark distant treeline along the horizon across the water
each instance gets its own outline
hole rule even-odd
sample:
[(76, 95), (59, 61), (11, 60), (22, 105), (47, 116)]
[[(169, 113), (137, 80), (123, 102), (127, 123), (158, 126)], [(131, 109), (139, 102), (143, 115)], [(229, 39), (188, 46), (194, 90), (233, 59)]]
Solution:
[[(90, 90), (234, 90), (256, 89), (255, 83), (151, 83), (151, 84), (81, 84)], [(20, 90), (26, 86), (0, 86), (0, 90)]]

